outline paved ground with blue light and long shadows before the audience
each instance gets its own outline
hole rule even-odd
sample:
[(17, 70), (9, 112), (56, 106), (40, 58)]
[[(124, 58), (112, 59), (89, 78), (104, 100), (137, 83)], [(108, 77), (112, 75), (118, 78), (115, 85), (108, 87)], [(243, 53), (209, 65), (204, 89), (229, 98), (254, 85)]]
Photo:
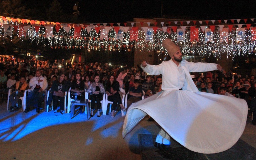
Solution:
[[(141, 159), (138, 134), (156, 135), (155, 122), (142, 120), (124, 139), (124, 117), (118, 112), (94, 116), (7, 112), (0, 105), (0, 159)], [(248, 119), (241, 139), (256, 148), (256, 126)]]

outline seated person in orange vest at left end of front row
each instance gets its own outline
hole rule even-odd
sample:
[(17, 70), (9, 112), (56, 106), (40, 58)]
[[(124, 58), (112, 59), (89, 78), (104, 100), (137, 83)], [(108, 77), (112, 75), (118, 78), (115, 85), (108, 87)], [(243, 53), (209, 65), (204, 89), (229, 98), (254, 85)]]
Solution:
[[(18, 100), (20, 97), (24, 96), (24, 91), (28, 89), (28, 84), (25, 80), (25, 76), (20, 76), (20, 79), (16, 84), (14, 84), (12, 87), (13, 92), (10, 94), (9, 99), (11, 102), (11, 107), (8, 109), (9, 112), (17, 110), (18, 107), (16, 107), (16, 104), (18, 103)], [(18, 91), (18, 93), (16, 93)]]

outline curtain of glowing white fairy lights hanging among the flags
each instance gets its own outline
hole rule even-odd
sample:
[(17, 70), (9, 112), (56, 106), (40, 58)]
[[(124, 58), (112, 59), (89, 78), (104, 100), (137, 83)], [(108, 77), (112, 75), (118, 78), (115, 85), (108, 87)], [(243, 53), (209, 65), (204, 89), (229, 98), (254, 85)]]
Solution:
[[(4, 36), (5, 29), (4, 24), (18, 25), (17, 22), (4, 21), (0, 18), (0, 39), (3, 43), (6, 42), (6, 36)], [(40, 26), (38, 32), (35, 30), (35, 26), (29, 26), (28, 30), (24, 31), (22, 27), (18, 27), (17, 32), (13, 31), (12, 37), (18, 35), (19, 40), (23, 41), (28, 39), (31, 43), (36, 42), (37, 44), (43, 44), (45, 47), (51, 47), (52, 49), (81, 49), (85, 48), (90, 50), (103, 50), (108, 52), (108, 50), (121, 51), (122, 49), (126, 51), (131, 51), (134, 47), (135, 50), (142, 52), (146, 51), (151, 53), (152, 51), (158, 54), (167, 55), (167, 51), (162, 47), (162, 41), (166, 38), (172, 39), (174, 42), (177, 41), (177, 33), (172, 31), (170, 33), (163, 32), (160, 28), (154, 34), (153, 41), (145, 42), (145, 32), (143, 30), (137, 30), (138, 39), (137, 41), (130, 41), (130, 30), (124, 32), (123, 40), (115, 40), (116, 32), (110, 27), (107, 33), (105, 29), (100, 30), (98, 33), (95, 28), (90, 31), (86, 28), (71, 27), (69, 32), (66, 32), (64, 27), (60, 27), (59, 31), (56, 31), (55, 27), (47, 29), (45, 26)], [(80, 29), (80, 30), (79, 30)], [(179, 41), (178, 45), (181, 48), (181, 52), (184, 55), (199, 55), (199, 56), (211, 56), (218, 58), (224, 53), (227, 54), (227, 58), (234, 58), (236, 56), (249, 56), (256, 54), (256, 41), (252, 41), (252, 36), (250, 29), (245, 29), (244, 31), (244, 42), (236, 43), (236, 31), (232, 30), (228, 33), (228, 43), (221, 39), (220, 32), (213, 32), (212, 43), (205, 43), (205, 33), (199, 29), (198, 42), (190, 42), (190, 31), (185, 32), (185, 42)], [(108, 36), (106, 36), (106, 34)], [(100, 39), (102, 37), (107, 37), (107, 39)], [(74, 38), (81, 37), (81, 38)]]

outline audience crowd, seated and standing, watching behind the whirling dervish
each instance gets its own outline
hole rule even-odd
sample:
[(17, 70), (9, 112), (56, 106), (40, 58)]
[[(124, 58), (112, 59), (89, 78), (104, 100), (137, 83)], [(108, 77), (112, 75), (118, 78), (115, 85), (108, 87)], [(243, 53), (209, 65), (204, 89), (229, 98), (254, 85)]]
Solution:
[[(195, 75), (193, 81), (200, 92), (210, 94), (220, 94), (234, 96), (245, 99), (248, 107), (255, 115), (255, 77), (254, 75), (242, 77), (239, 74), (227, 73), (225, 70), (192, 73)], [(114, 83), (115, 82), (115, 83)], [(118, 83), (116, 83), (118, 82)], [(17, 110), (16, 103), (22, 97), (24, 91), (29, 93), (26, 97), (26, 110), (36, 107), (36, 112), (40, 112), (40, 107), (46, 91), (51, 88), (51, 99), (53, 108), (57, 112), (57, 102), (59, 102), (60, 113), (64, 112), (63, 93), (71, 87), (71, 98), (77, 95), (78, 99), (84, 100), (85, 92), (88, 92), (93, 100), (91, 104), (91, 116), (93, 109), (97, 109), (97, 116), (100, 117), (100, 101), (102, 94), (108, 95), (108, 100), (113, 101), (111, 117), (120, 108), (125, 110), (118, 96), (119, 88), (129, 92), (127, 107), (148, 96), (161, 92), (162, 76), (147, 75), (140, 66), (128, 68), (127, 66), (112, 67), (108, 63), (71, 63), (70, 60), (39, 60), (21, 58), (0, 58), (0, 85), (1, 92), (10, 94), (11, 106), (9, 112)], [(76, 93), (76, 94), (75, 94)], [(49, 100), (48, 100), (49, 101)], [(95, 103), (96, 102), (96, 103)], [(80, 113), (82, 113), (82, 106)], [(248, 114), (250, 115), (250, 114)], [(256, 118), (253, 119), (255, 124)]]

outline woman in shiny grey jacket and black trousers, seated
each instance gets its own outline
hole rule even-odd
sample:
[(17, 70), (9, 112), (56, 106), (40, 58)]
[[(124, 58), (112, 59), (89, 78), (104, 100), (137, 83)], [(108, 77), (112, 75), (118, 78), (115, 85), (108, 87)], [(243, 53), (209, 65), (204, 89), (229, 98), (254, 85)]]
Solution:
[(103, 100), (103, 95), (105, 89), (102, 83), (100, 83), (99, 74), (95, 73), (93, 75), (94, 82), (90, 84), (87, 92), (90, 93), (91, 99), (91, 117), (93, 117), (93, 109), (95, 106), (95, 101), (97, 102), (97, 117), (100, 117), (100, 101)]

